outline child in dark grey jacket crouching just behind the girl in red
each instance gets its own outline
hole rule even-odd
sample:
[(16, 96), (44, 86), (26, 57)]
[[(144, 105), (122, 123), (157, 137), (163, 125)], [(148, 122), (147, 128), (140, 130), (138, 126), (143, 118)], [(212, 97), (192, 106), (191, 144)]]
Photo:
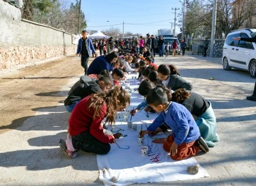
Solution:
[(93, 80), (88, 76), (81, 76), (70, 91), (68, 97), (64, 101), (65, 108), (68, 112), (72, 112), (76, 104), (86, 96), (98, 92), (104, 92), (113, 86), (113, 81), (109, 76), (100, 76), (99, 80)]

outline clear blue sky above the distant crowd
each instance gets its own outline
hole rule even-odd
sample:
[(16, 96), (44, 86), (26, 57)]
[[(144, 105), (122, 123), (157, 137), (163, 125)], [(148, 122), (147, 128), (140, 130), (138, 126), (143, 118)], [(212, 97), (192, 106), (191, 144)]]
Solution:
[[(183, 2), (183, 0), (180, 0)], [(81, 0), (87, 30), (106, 30), (111, 27), (120, 29), (124, 33), (147, 33), (157, 35), (158, 29), (174, 29), (175, 10), (182, 13), (182, 3), (179, 0)], [(173, 24), (173, 25), (172, 25)], [(176, 22), (179, 24), (179, 22)], [(173, 27), (172, 27), (173, 26)], [(176, 25), (175, 33), (180, 29)]]

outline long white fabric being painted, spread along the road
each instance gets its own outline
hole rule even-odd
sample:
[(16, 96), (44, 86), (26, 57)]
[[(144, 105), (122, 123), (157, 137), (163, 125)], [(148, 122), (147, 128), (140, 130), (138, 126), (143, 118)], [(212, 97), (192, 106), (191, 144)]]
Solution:
[[(129, 75), (129, 78), (135, 75)], [(131, 80), (130, 87), (138, 87), (137, 80)], [(131, 105), (127, 110), (136, 108), (143, 101), (138, 92), (132, 92)], [(198, 162), (193, 158), (182, 161), (173, 161), (168, 152), (163, 150), (163, 144), (152, 143), (154, 138), (164, 138), (170, 133), (160, 133), (152, 138), (147, 134), (143, 138), (143, 145), (148, 146), (148, 155), (141, 155), (141, 147), (138, 143), (138, 131), (147, 129), (147, 126), (157, 117), (157, 113), (138, 111), (136, 115), (128, 118), (133, 124), (137, 124), (137, 131), (128, 129), (124, 121), (124, 113), (118, 113), (115, 125), (108, 125), (113, 133), (121, 132), (127, 136), (116, 140), (111, 144), (111, 150), (106, 155), (97, 155), (97, 163), (100, 171), (99, 178), (105, 185), (129, 185), (132, 183), (171, 182), (177, 180), (191, 180), (209, 177), (204, 168), (200, 167), (196, 175), (190, 175), (186, 169)], [(121, 129), (121, 130), (120, 130)], [(124, 131), (123, 131), (124, 130)], [(129, 149), (124, 149), (129, 148)], [(112, 182), (113, 180), (114, 182)]]

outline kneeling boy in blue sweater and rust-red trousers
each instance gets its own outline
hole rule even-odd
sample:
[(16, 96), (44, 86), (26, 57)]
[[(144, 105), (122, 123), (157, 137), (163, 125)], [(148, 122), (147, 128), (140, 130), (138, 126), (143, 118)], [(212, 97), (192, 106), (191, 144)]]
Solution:
[(147, 103), (160, 115), (147, 128), (147, 131), (141, 132), (141, 136), (150, 134), (165, 122), (172, 129), (172, 134), (165, 140), (157, 139), (157, 141), (164, 143), (164, 150), (170, 152), (173, 160), (195, 156), (200, 150), (209, 152), (191, 113), (181, 104), (168, 101), (166, 92), (161, 87), (148, 92)]

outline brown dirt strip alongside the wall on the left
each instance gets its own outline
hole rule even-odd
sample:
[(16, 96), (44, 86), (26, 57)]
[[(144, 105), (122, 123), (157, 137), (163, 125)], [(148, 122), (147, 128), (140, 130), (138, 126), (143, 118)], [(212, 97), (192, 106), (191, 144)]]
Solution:
[[(93, 58), (90, 58), (90, 62)], [(70, 78), (78, 79), (84, 71), (76, 55), (61, 57), (43, 64), (1, 75), (0, 71), (0, 134), (20, 127), (37, 108), (57, 106), (63, 103), (58, 96)]]

